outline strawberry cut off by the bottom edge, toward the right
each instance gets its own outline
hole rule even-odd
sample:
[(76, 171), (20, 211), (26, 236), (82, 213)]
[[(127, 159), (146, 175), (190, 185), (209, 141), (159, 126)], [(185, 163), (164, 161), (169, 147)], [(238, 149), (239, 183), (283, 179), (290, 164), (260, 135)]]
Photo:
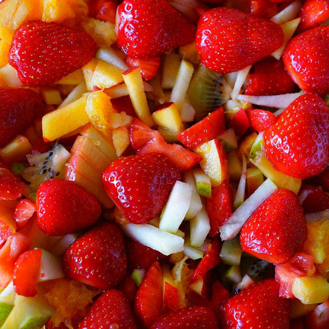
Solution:
[(252, 284), (223, 306), (223, 329), (289, 328), (289, 301), (279, 297), (274, 279)]

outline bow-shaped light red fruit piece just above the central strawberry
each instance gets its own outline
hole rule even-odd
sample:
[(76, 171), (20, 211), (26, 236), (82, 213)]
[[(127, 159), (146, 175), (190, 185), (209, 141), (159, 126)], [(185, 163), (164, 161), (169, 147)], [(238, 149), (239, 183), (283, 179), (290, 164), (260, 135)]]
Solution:
[(138, 154), (164, 154), (180, 171), (191, 169), (202, 160), (200, 156), (181, 145), (167, 143), (159, 132), (138, 119), (132, 121), (129, 132), (130, 143)]

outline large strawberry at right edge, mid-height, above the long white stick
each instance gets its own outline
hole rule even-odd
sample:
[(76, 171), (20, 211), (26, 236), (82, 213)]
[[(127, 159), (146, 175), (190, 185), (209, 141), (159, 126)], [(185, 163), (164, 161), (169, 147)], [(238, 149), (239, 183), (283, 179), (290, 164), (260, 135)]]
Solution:
[(264, 132), (267, 158), (296, 178), (321, 173), (329, 163), (329, 109), (317, 95), (305, 94), (286, 108)]

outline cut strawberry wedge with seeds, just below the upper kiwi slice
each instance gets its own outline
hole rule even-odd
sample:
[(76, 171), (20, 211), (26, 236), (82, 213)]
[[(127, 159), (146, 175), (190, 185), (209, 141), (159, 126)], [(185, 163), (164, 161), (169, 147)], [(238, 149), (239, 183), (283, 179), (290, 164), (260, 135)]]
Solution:
[(178, 141), (189, 149), (195, 149), (205, 142), (219, 136), (225, 130), (223, 108), (218, 108), (208, 117), (195, 123), (184, 132), (177, 135)]

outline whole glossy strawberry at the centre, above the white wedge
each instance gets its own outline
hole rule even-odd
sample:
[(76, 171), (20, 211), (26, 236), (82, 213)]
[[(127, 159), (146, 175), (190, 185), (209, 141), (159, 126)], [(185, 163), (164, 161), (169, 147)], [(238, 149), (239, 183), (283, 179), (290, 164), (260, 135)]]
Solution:
[(167, 202), (181, 175), (162, 154), (122, 157), (103, 172), (103, 186), (128, 221), (147, 223)]

